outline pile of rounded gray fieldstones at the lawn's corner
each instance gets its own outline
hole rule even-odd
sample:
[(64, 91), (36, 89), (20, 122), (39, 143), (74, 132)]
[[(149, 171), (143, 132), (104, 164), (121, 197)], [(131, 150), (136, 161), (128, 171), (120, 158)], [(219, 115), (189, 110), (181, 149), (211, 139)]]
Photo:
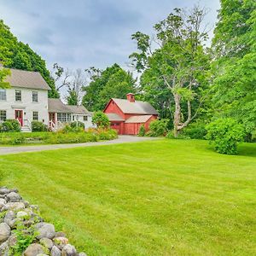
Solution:
[[(26, 247), (24, 237), (31, 241)], [(0, 255), (17, 252), (22, 256), (86, 256), (68, 243), (64, 233), (56, 232), (53, 224), (45, 223), (38, 207), (22, 200), (17, 189), (0, 187)]]

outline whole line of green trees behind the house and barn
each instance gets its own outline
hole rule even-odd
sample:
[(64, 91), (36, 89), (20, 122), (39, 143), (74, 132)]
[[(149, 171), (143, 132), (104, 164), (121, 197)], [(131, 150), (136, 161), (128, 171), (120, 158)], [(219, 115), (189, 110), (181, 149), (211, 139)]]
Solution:
[[(0, 22), (0, 59), (8, 67), (42, 73), (58, 96), (67, 87), (67, 102), (82, 103), (90, 111), (102, 110), (112, 97), (150, 102), (168, 119), (174, 136), (187, 133), (203, 138), (206, 125), (216, 119), (241, 124), (246, 140), (256, 137), (256, 2), (221, 0), (211, 47), (207, 47), (207, 12), (174, 9), (154, 25), (154, 37), (135, 32), (137, 51), (129, 56), (131, 70), (118, 64), (105, 70), (90, 67), (74, 73), (54, 65), (52, 77), (44, 61), (22, 44)], [(55, 84), (57, 84), (55, 88)], [(221, 122), (220, 122), (221, 123)]]

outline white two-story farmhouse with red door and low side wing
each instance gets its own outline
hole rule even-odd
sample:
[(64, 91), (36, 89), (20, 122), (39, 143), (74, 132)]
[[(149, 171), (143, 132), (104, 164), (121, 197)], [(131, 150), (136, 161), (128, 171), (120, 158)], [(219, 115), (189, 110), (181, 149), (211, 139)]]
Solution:
[(17, 119), (21, 131), (31, 131), (33, 120), (43, 122), (54, 131), (73, 121), (83, 122), (86, 128), (93, 127), (92, 114), (86, 108), (48, 98), (50, 88), (40, 73), (12, 68), (10, 72), (6, 80), (11, 88), (0, 89), (0, 122)]

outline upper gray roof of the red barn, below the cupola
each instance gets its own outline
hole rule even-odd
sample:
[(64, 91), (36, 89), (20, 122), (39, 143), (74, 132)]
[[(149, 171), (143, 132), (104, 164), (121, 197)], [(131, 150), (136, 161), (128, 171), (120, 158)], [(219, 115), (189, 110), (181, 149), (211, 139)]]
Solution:
[(148, 102), (129, 102), (128, 100), (115, 98), (113, 98), (113, 101), (119, 106), (123, 113), (158, 114)]

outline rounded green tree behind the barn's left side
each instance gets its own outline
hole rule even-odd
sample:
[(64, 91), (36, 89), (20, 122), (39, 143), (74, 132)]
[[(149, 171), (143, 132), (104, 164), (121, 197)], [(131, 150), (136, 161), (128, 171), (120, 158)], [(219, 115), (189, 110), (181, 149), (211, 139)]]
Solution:
[(84, 87), (83, 105), (90, 111), (105, 108), (110, 98), (125, 98), (129, 92), (136, 92), (136, 81), (129, 72), (114, 64), (100, 71), (95, 67), (86, 70), (90, 84)]

